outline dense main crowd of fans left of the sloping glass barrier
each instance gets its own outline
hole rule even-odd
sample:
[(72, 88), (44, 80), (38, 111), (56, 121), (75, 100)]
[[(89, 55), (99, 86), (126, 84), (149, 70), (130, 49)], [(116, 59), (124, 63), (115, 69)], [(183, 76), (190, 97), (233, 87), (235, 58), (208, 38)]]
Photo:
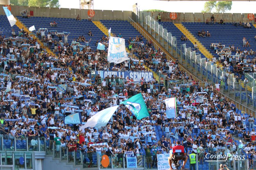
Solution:
[[(45, 31), (38, 30), (36, 37), (29, 37), (21, 29), (16, 39), (7, 38), (9, 35), (0, 37), (0, 134), (4, 140), (11, 140), (11, 149), (14, 137), (16, 140), (28, 137), (29, 147), (33, 149), (36, 139), (45, 137), (48, 150), (54, 145), (56, 154), (69, 154), (69, 159), (74, 158), (75, 151), (79, 152), (84, 156), (81, 163), (89, 162), (88, 167), (96, 166), (93, 164), (96, 153), (113, 155), (118, 167), (123, 154), (133, 151), (138, 157), (146, 153), (147, 167), (152, 168), (157, 166), (156, 154), (169, 153), (177, 139), (181, 139), (187, 154), (188, 151), (198, 154), (200, 164), (204, 164), (207, 152), (236, 155), (238, 143), (230, 133), (234, 132), (235, 135), (245, 133), (246, 142), (239, 146), (245, 151), (250, 149), (251, 156), (255, 157), (252, 115), (239, 114), (234, 101), (220, 96), (218, 82), (214, 86), (206, 81), (199, 84), (192, 75), (180, 70), (177, 59), (168, 60), (161, 49), (155, 49), (152, 41), (144, 44), (141, 36), (126, 40), (130, 64), (128, 61), (114, 64), (107, 62), (107, 51), (92, 50), (90, 41), (83, 36), (69, 45), (67, 34), (48, 32), (46, 35)], [(88, 34), (92, 36), (91, 31)], [(54, 52), (47, 53), (47, 48), (53, 50), (50, 40), (54, 42)], [(79, 47), (79, 41), (85, 41), (86, 46)], [(107, 45), (108, 36), (97, 42)], [(154, 77), (148, 82), (143, 78), (134, 82), (114, 75), (102, 78), (91, 74), (94, 70), (150, 71), (148, 68), (162, 74), (159, 80)], [(180, 85), (179, 80), (185, 84)], [(66, 93), (52, 89), (61, 84), (68, 85)], [(138, 93), (142, 94), (150, 114), (141, 120), (127, 107), (119, 105)], [(199, 95), (204, 95), (204, 101), (192, 103)], [(171, 97), (177, 99), (179, 116), (167, 119), (164, 100)], [(68, 107), (70, 105), (79, 108)], [(100, 129), (79, 130), (82, 125), (70, 126), (63, 122), (65, 116), (77, 109), (82, 110), (82, 122), (86, 122), (104, 108), (115, 105), (119, 107), (113, 120)]]

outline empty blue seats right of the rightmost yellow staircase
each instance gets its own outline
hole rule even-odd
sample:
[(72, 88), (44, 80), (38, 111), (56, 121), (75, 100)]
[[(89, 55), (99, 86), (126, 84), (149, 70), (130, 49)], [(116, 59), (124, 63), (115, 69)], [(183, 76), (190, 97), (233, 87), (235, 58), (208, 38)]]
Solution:
[[(243, 26), (233, 26), (232, 23), (224, 24), (214, 24), (214, 25), (206, 25), (205, 23), (187, 23), (183, 22), (182, 25), (192, 36), (194, 36), (213, 56), (217, 58), (217, 54), (214, 53), (214, 50), (210, 48), (211, 43), (221, 43), (228, 47), (229, 45), (234, 45), (235, 49), (238, 47), (241, 51), (244, 51), (246, 48), (248, 51), (253, 49), (255, 51), (256, 43), (255, 43), (255, 27), (252, 26), (252, 29), (243, 28)], [(211, 33), (211, 37), (199, 37), (197, 35), (198, 31), (209, 31)], [(228, 38), (227, 38), (228, 35)], [(249, 41), (251, 48), (243, 47), (243, 37)], [(236, 52), (232, 52), (232, 55), (235, 55)], [(255, 56), (255, 55), (254, 55)], [(248, 56), (250, 58), (254, 58), (254, 56)], [(233, 72), (233, 67), (230, 67), (230, 71)], [(242, 77), (244, 79), (244, 77)]]

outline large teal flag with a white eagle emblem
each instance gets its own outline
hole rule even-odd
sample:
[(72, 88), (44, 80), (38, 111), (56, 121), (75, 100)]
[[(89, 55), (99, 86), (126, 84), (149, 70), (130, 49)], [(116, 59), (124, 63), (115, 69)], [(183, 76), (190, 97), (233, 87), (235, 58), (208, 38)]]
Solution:
[(120, 104), (124, 104), (138, 120), (149, 116), (148, 108), (141, 93), (132, 96), (130, 99), (127, 99)]

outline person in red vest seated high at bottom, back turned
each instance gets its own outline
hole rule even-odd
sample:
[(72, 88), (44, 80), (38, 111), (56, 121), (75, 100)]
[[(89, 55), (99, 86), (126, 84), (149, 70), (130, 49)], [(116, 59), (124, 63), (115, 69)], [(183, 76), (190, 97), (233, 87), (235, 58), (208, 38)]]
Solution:
[[(184, 149), (184, 146), (180, 145), (181, 144), (180, 139), (176, 140), (176, 144), (177, 144), (176, 146), (172, 147), (172, 150), (170, 151), (170, 157), (168, 157), (170, 169), (172, 169), (172, 163), (177, 160), (183, 160), (182, 169), (184, 169), (188, 160), (188, 157), (186, 156), (186, 150)], [(183, 153), (183, 154), (180, 154), (180, 153)]]

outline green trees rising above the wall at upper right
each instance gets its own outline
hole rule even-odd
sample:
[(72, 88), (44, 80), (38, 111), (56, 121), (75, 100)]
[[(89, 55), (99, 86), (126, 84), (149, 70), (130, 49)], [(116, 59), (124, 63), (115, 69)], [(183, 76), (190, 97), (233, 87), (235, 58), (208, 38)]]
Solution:
[(217, 12), (224, 13), (230, 11), (232, 8), (232, 1), (207, 1), (204, 3), (204, 10), (202, 12)]

